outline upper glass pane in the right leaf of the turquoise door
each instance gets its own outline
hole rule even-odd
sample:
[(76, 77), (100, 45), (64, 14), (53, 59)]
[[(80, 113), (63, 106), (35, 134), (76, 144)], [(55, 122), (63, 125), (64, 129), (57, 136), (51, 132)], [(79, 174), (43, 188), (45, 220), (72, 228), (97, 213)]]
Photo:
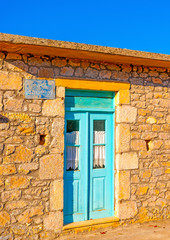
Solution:
[(93, 122), (93, 143), (105, 143), (105, 120), (94, 120)]

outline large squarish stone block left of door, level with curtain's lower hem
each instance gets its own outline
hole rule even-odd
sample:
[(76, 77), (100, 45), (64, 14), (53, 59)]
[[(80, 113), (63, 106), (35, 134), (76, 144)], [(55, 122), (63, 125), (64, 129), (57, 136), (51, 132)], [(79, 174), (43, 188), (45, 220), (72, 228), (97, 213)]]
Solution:
[(40, 158), (40, 179), (56, 179), (63, 177), (63, 156), (47, 155)]

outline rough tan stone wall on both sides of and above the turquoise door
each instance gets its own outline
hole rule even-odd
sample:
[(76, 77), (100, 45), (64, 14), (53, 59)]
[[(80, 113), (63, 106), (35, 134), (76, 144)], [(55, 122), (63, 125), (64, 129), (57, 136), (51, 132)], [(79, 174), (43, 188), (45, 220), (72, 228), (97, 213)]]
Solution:
[(57, 77), (131, 84), (116, 95), (115, 216), (168, 217), (169, 69), (0, 53), (0, 236), (61, 232), (65, 89), (55, 100), (26, 100), (23, 89), (23, 79)]

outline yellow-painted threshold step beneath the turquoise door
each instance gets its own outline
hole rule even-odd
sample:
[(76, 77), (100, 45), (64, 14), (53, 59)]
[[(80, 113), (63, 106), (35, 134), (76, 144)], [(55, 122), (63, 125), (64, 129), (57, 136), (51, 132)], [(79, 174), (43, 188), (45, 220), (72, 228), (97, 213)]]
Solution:
[(107, 217), (107, 218), (99, 218), (99, 219), (69, 223), (69, 224), (63, 226), (63, 230), (71, 230), (74, 228), (89, 227), (89, 226), (93, 226), (93, 225), (102, 225), (102, 224), (114, 223), (114, 222), (119, 222), (119, 218)]

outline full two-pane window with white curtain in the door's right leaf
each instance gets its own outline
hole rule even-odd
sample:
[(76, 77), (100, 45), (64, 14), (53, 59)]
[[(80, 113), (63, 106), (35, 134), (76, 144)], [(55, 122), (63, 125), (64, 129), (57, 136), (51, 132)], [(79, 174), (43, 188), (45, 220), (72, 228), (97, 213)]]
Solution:
[(93, 144), (93, 168), (105, 168), (105, 120), (94, 120)]

